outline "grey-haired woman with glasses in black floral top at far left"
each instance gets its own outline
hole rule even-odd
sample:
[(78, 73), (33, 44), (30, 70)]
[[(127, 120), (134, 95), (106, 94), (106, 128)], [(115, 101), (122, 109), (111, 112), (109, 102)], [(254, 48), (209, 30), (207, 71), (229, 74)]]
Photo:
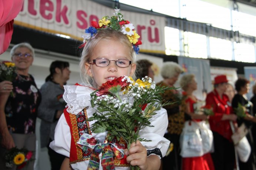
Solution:
[[(34, 60), (34, 49), (28, 43), (20, 43), (13, 46), (10, 54), (11, 60), (16, 65), (17, 76), (13, 82), (5, 81), (1, 84), (3, 89), (6, 89), (6, 92), (0, 93), (1, 169), (5, 167), (2, 159), (6, 149), (16, 146), (19, 149), (36, 150), (36, 117), (41, 101), (34, 78), (29, 74), (29, 67)], [(11, 96), (10, 89), (13, 89)], [(33, 169), (33, 157), (27, 165), (29, 170)], [(14, 166), (13, 169), (16, 167)]]

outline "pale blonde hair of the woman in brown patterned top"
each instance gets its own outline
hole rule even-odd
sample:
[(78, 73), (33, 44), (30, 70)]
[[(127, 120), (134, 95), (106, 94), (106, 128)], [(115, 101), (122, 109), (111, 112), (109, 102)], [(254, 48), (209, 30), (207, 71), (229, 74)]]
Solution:
[(161, 75), (164, 79), (172, 78), (176, 74), (182, 73), (182, 67), (175, 62), (164, 62), (161, 70)]

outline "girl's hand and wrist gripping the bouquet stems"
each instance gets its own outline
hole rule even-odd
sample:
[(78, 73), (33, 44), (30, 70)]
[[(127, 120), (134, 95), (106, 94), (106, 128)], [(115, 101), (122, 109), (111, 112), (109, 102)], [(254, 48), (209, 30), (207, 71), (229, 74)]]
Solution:
[(127, 156), (127, 162), (132, 166), (139, 166), (140, 170), (159, 169), (160, 167), (160, 158), (156, 155), (147, 157), (147, 149), (139, 140), (133, 142), (129, 150), (124, 150), (124, 154)]

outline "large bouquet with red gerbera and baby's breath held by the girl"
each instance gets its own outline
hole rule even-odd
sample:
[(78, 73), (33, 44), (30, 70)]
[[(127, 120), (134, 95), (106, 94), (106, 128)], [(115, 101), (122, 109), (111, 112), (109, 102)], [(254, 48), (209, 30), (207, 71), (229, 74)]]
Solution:
[[(108, 140), (122, 138), (130, 148), (132, 142), (149, 141), (140, 138), (139, 131), (145, 126), (152, 126), (150, 118), (157, 110), (170, 102), (161, 103), (160, 93), (172, 87), (160, 87), (149, 77), (134, 81), (132, 77), (121, 76), (103, 83), (91, 93), (91, 104), (96, 109), (89, 121), (94, 133), (108, 131)], [(139, 169), (131, 166), (131, 169)]]

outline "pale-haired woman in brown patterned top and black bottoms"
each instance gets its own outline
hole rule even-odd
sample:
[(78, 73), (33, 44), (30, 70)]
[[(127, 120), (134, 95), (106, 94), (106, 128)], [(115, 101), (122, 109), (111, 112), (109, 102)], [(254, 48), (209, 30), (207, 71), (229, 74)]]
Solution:
[[(159, 86), (174, 87), (174, 84), (182, 73), (182, 67), (175, 62), (164, 62), (161, 75), (163, 81), (157, 83)], [(163, 169), (179, 170), (181, 166), (180, 157), (180, 134), (184, 124), (184, 111), (186, 108), (185, 102), (181, 100), (181, 95), (177, 90), (168, 90), (162, 94), (163, 102), (176, 102), (171, 105), (164, 106), (168, 114), (168, 128), (164, 137), (170, 140), (169, 155), (163, 157)]]

